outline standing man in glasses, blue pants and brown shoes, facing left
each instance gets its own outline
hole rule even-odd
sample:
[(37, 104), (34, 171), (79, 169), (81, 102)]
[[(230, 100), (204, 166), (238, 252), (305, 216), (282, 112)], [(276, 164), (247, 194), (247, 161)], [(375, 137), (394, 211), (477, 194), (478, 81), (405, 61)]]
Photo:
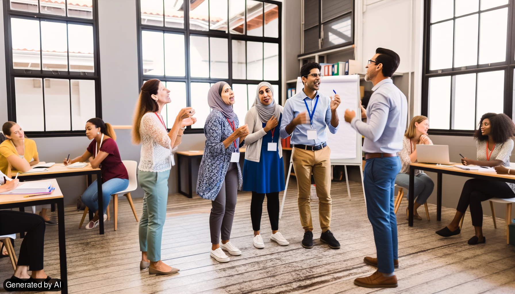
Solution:
[(377, 271), (365, 278), (357, 278), (354, 284), (368, 288), (397, 287), (393, 269), (399, 267), (397, 257), (397, 219), (393, 211), (395, 177), (401, 170), (398, 152), (402, 149), (402, 137), (406, 129), (407, 100), (391, 80), (399, 67), (399, 55), (392, 50), (377, 48), (368, 61), (366, 81), (371, 81), (374, 93), (370, 97), (366, 114), (367, 122), (356, 117), (354, 111), (345, 111), (345, 121), (365, 137), (364, 185), (368, 219), (374, 231), (377, 258), (365, 257), (364, 262), (377, 267)]

